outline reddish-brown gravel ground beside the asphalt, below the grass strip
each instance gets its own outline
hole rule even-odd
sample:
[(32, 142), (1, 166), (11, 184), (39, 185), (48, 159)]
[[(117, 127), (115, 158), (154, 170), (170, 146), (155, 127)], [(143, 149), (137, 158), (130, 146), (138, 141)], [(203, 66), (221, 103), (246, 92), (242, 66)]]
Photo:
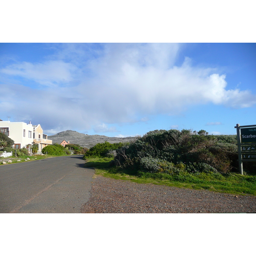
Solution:
[(256, 213), (256, 196), (138, 184), (96, 176), (82, 213)]

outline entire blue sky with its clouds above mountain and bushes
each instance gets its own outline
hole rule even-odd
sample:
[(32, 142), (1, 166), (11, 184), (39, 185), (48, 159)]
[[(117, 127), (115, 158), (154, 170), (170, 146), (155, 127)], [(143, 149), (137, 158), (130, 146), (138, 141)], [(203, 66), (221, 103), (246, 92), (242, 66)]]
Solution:
[(256, 124), (255, 43), (0, 43), (0, 119), (109, 137)]

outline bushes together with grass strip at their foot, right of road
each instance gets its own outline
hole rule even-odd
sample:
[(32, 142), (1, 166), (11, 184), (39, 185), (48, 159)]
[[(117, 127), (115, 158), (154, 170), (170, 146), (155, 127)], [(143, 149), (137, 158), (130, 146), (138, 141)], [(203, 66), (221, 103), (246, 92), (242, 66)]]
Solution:
[[(109, 143), (110, 144), (110, 143)], [(138, 183), (256, 195), (256, 162), (239, 174), (236, 135), (156, 130), (131, 143), (99, 143), (85, 154), (96, 174)], [(107, 150), (108, 149), (108, 150)]]

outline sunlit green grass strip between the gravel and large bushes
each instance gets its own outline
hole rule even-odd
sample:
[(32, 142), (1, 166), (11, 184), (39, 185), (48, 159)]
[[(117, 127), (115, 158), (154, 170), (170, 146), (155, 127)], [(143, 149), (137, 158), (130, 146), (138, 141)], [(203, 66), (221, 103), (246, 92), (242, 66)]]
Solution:
[(209, 191), (235, 195), (256, 196), (256, 175), (240, 175), (235, 173), (228, 175), (221, 175), (219, 173), (168, 175), (163, 173), (138, 172), (133, 169), (122, 169), (115, 166), (110, 167), (111, 160), (113, 160), (113, 158), (88, 157), (85, 167), (94, 167), (96, 169), (96, 175), (118, 180), (175, 186), (179, 188), (207, 189)]

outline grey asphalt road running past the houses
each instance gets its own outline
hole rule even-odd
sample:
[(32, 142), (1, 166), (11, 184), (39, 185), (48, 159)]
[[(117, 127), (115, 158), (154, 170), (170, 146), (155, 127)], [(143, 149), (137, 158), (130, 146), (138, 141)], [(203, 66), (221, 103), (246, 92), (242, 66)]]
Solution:
[(80, 213), (93, 174), (79, 155), (1, 165), (0, 213)]

